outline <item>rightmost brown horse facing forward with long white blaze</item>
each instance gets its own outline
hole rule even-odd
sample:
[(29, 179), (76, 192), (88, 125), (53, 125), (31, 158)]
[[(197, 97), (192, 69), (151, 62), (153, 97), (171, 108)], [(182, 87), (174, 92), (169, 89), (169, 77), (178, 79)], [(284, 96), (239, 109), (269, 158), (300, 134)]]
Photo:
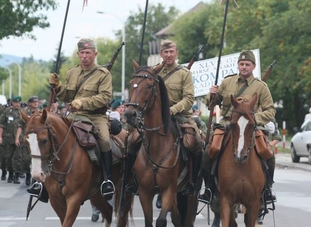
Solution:
[(222, 227), (237, 227), (234, 204), (245, 206), (245, 226), (255, 227), (265, 185), (265, 173), (254, 148), (257, 93), (251, 101), (232, 95), (230, 98), (233, 106), (230, 131), (218, 166)]

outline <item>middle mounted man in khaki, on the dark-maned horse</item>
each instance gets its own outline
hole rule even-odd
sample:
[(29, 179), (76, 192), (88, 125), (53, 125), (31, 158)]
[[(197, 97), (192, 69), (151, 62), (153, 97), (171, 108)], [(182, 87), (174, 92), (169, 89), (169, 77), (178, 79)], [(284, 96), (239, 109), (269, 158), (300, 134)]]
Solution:
[[(193, 196), (197, 177), (201, 168), (202, 142), (198, 127), (192, 116), (194, 103), (194, 85), (191, 72), (185, 66), (176, 62), (178, 50), (176, 44), (171, 40), (164, 40), (160, 46), (160, 57), (165, 62), (159, 75), (164, 79), (170, 100), (170, 113), (174, 120), (179, 123), (188, 123), (196, 131), (197, 145), (195, 151), (190, 151), (192, 157), (192, 182), (183, 188), (183, 194)], [(130, 154), (131, 155), (131, 154)], [(131, 159), (130, 159), (131, 160)], [(134, 163), (130, 163), (132, 166)], [(134, 184), (129, 184), (125, 191), (134, 192)]]

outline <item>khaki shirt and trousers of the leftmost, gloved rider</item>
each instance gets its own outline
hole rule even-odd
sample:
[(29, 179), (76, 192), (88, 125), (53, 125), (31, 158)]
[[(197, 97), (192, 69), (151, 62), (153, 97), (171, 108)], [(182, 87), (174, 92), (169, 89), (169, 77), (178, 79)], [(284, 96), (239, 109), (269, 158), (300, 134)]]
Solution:
[[(76, 87), (80, 81), (90, 73), (93, 69), (97, 70), (85, 81), (79, 91)], [(81, 99), (83, 110), (78, 112), (78, 115), (88, 117), (99, 129), (99, 143), (101, 151), (111, 150), (109, 145), (109, 123), (108, 117), (105, 115), (106, 110), (102, 112), (92, 113), (92, 110), (98, 110), (101, 107), (108, 105), (111, 99), (112, 86), (110, 72), (100, 67), (93, 65), (88, 69), (82, 69), (80, 64), (70, 68), (66, 75), (65, 85), (60, 87), (57, 92), (59, 100), (65, 103), (71, 103), (75, 99)], [(75, 112), (71, 112), (68, 116), (73, 119)]]

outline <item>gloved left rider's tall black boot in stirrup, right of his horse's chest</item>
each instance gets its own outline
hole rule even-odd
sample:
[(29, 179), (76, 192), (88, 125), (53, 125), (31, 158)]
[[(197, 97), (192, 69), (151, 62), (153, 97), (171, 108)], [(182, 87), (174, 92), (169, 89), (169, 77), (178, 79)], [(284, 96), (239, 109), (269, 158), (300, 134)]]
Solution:
[(111, 172), (112, 172), (112, 151), (102, 152), (102, 163), (104, 164), (104, 168), (107, 174), (107, 181), (104, 180), (101, 186), (102, 196), (106, 198), (106, 200), (110, 200), (115, 193), (115, 186), (112, 182)]

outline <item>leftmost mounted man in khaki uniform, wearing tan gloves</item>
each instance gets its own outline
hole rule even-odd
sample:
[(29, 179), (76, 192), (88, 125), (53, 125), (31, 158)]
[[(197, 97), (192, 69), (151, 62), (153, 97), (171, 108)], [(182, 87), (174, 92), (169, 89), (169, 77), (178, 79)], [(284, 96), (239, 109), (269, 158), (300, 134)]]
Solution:
[[(59, 76), (51, 74), (50, 84), (54, 85), (59, 100), (70, 103), (74, 111), (78, 111), (75, 120), (87, 117), (99, 129), (99, 145), (102, 162), (106, 170), (108, 181), (101, 186), (102, 195), (111, 199), (114, 194), (114, 185), (111, 182), (112, 151), (109, 144), (109, 122), (106, 116), (107, 105), (111, 100), (112, 84), (110, 72), (95, 64), (97, 56), (96, 45), (93, 40), (81, 39), (78, 42), (77, 56), (80, 63), (67, 71), (65, 84)], [(87, 78), (83, 81), (84, 78)], [(74, 118), (71, 112), (69, 119)]]

